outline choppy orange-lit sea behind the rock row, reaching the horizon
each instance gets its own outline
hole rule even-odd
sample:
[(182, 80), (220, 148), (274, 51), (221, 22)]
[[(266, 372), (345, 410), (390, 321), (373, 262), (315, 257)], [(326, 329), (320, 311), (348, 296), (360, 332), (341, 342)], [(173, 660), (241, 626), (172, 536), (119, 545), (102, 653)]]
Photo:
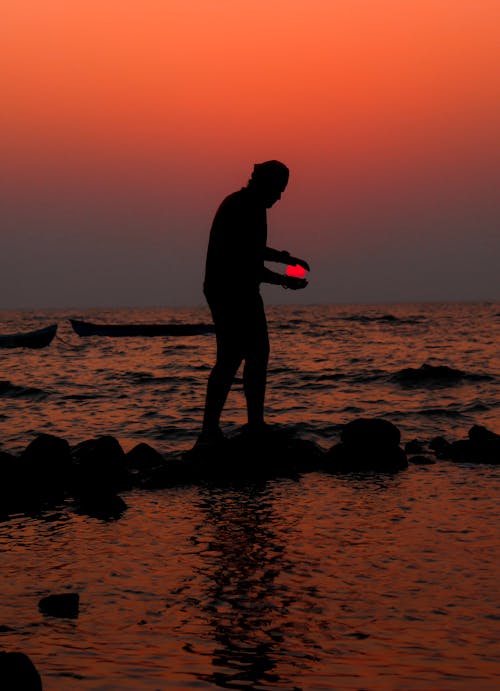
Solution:
[[(381, 415), (404, 436), (459, 435), (500, 418), (500, 304), (307, 306), (268, 309), (271, 360), (267, 417), (323, 445), (339, 426)], [(78, 442), (102, 433), (125, 447), (188, 447), (199, 429), (213, 364), (213, 335), (83, 338), (68, 317), (109, 322), (208, 321), (205, 309), (0, 313), (2, 331), (52, 322), (58, 337), (41, 351), (0, 350), (0, 441), (16, 450), (41, 431)], [(61, 340), (64, 339), (64, 340)], [(394, 375), (422, 364), (464, 377), (402, 385)], [(223, 426), (244, 419), (241, 380)]]

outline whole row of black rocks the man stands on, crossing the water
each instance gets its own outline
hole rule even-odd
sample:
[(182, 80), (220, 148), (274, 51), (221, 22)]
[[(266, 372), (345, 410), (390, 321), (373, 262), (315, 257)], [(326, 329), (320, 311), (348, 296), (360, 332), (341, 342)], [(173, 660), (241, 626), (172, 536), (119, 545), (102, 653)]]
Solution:
[(377, 418), (344, 425), (339, 443), (326, 452), (289, 431), (269, 427), (259, 435), (245, 428), (217, 444), (161, 455), (145, 443), (125, 453), (111, 436), (74, 447), (41, 434), (19, 456), (0, 452), (0, 516), (36, 513), (62, 502), (102, 519), (118, 518), (127, 505), (120, 493), (199, 483), (234, 483), (296, 477), (309, 471), (397, 472), (437, 459), (499, 463), (500, 435), (475, 425), (467, 439), (413, 439), (401, 447), (399, 429)]

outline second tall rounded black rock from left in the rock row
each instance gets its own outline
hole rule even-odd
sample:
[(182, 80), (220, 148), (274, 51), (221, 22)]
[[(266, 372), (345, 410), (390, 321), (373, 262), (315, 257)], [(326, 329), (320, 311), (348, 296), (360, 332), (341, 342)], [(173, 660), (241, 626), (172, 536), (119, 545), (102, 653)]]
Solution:
[(111, 495), (132, 486), (125, 453), (114, 437), (83, 441), (73, 448), (72, 455), (74, 495)]

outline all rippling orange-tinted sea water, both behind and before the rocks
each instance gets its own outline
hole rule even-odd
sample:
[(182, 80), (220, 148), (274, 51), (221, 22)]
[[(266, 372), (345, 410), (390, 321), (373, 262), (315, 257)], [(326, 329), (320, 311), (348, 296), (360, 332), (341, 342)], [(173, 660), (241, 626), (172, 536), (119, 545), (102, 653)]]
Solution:
[[(403, 444), (474, 424), (500, 432), (500, 304), (267, 314), (268, 422), (324, 449), (358, 417), (390, 420)], [(59, 329), (43, 350), (0, 350), (0, 450), (41, 432), (70, 444), (111, 434), (126, 451), (192, 446), (215, 337), (80, 338), (69, 318), (209, 314), (1, 312), (1, 333)], [(223, 431), (244, 422), (240, 373)], [(29, 654), (47, 691), (496, 689), (499, 478), (498, 466), (438, 461), (135, 490), (116, 521), (70, 505), (12, 516), (0, 523), (0, 649)], [(66, 591), (80, 594), (77, 619), (38, 611)]]

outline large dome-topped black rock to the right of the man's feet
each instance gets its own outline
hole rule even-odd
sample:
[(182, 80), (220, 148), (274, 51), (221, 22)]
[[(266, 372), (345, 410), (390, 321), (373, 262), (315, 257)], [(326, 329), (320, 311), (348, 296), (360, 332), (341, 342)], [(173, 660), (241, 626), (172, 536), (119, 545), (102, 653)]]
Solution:
[(325, 470), (342, 473), (403, 470), (408, 467), (408, 461), (399, 446), (400, 439), (399, 429), (388, 420), (353, 420), (343, 428), (340, 444), (327, 452)]

